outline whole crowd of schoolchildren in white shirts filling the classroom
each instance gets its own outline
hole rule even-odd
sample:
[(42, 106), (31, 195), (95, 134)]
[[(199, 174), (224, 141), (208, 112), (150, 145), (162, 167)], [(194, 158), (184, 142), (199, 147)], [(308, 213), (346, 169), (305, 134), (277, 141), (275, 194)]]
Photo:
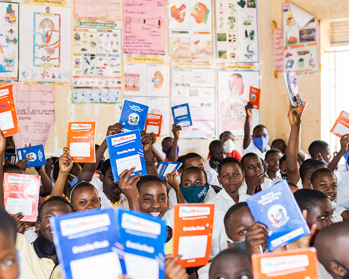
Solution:
[[(174, 123), (174, 138), (162, 141), (165, 159), (154, 148), (155, 134), (142, 131), (147, 175), (131, 176), (133, 167), (124, 170), (118, 182), (114, 182), (111, 161), (104, 160), (106, 140), (95, 148), (96, 163), (75, 163), (70, 150), (63, 148), (60, 158), (50, 157), (45, 167), (35, 167), (42, 181), (36, 222), (22, 221), (23, 212), (10, 216), (4, 210), (3, 174), (24, 174), (29, 168), (27, 159), (16, 164), (4, 160), (4, 164), (0, 164), (0, 278), (63, 278), (50, 217), (122, 207), (166, 222), (169, 228), (165, 245), (166, 279), (252, 279), (251, 255), (270, 253), (269, 228), (255, 222), (246, 199), (286, 180), (311, 234), (280, 250), (314, 246), (320, 279), (348, 279), (349, 172), (347, 167), (337, 165), (349, 151), (349, 135), (341, 138), (341, 149), (332, 160), (330, 148), (323, 141), (315, 140), (309, 146), (309, 155), (303, 152), (299, 143), (301, 105), (297, 99), (296, 107), (289, 106), (287, 145), (275, 139), (269, 146), (266, 126), (257, 125), (252, 130), (253, 105), (249, 102), (245, 109), (242, 157), (235, 150), (235, 138), (230, 131), (210, 143), (208, 158), (207, 154), (192, 152), (179, 156), (181, 127)], [(116, 123), (108, 128), (106, 135), (123, 130), (123, 126)], [(15, 150), (12, 137), (5, 138), (0, 131), (1, 158)], [(178, 172), (168, 173), (165, 180), (161, 180), (157, 164), (162, 161), (180, 162), (181, 166)], [(172, 256), (173, 208), (178, 203), (214, 204), (211, 251), (205, 266), (184, 268), (178, 263), (181, 256)], [(118, 275), (118, 278), (128, 277)]]

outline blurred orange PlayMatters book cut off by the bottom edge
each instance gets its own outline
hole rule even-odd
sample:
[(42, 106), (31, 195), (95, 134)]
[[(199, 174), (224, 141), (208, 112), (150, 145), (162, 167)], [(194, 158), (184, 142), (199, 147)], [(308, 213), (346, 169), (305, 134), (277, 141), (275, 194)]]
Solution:
[(252, 255), (254, 279), (318, 279), (314, 247)]

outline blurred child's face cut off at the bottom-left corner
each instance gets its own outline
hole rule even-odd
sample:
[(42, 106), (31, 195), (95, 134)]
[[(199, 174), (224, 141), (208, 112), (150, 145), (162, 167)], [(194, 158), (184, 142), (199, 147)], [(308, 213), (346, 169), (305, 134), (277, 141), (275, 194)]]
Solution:
[(16, 279), (18, 276), (16, 242), (0, 232), (0, 278)]

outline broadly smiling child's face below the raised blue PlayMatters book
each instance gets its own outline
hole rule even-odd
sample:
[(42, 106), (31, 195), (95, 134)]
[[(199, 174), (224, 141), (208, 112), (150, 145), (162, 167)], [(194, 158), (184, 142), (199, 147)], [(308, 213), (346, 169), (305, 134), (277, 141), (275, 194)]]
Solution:
[(165, 215), (169, 207), (169, 198), (166, 186), (163, 183), (159, 181), (145, 182), (141, 186), (139, 195), (141, 212), (160, 218)]

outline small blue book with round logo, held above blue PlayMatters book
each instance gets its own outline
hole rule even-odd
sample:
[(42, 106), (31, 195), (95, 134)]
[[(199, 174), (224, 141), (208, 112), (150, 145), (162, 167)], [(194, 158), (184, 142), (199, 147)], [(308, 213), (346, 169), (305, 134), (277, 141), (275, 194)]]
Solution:
[(143, 131), (148, 110), (149, 107), (146, 105), (125, 100), (119, 120), (124, 131), (136, 129)]

